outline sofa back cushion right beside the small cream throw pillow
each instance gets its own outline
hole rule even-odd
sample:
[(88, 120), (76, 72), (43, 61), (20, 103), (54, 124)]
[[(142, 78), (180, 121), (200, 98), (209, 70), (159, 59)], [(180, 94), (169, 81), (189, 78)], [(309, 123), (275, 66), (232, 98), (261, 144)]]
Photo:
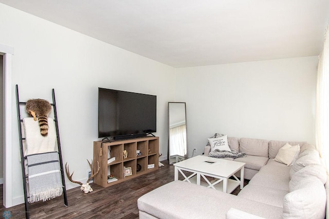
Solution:
[(290, 178), (293, 177), (293, 175), (297, 171), (301, 170), (302, 168), (308, 165), (314, 165), (320, 163), (321, 161), (320, 161), (319, 152), (314, 149), (307, 149), (299, 154), (298, 159), (294, 163), (293, 167), (290, 169)]

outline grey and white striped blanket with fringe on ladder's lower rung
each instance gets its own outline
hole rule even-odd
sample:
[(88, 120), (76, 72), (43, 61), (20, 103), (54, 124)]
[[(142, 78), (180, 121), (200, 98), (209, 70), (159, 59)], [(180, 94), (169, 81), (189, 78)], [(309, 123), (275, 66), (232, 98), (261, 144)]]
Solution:
[(63, 193), (57, 152), (27, 156), (30, 203), (49, 200)]

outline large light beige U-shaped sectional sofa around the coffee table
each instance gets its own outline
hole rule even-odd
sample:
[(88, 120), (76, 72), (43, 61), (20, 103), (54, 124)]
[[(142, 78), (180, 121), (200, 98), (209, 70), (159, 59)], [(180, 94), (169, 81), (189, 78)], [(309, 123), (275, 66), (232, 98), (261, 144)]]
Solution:
[[(173, 181), (138, 199), (140, 218), (324, 218), (328, 183), (313, 145), (300, 144), (293, 166), (273, 160), (285, 141), (229, 138), (230, 148), (244, 152), (245, 176), (239, 195), (189, 182)], [(232, 144), (233, 142), (233, 144)], [(267, 152), (266, 152), (267, 147)], [(257, 150), (259, 148), (260, 150)], [(208, 148), (205, 149), (207, 154)], [(267, 155), (267, 156), (265, 156)]]

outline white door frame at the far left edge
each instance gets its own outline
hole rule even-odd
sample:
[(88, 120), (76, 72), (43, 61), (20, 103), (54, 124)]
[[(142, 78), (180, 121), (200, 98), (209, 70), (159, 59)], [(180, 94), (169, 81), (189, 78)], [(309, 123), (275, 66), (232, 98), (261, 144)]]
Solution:
[(12, 56), (14, 48), (0, 44), (0, 54), (3, 55), (3, 91), (4, 91), (4, 197), (3, 203), (6, 208), (12, 207)]

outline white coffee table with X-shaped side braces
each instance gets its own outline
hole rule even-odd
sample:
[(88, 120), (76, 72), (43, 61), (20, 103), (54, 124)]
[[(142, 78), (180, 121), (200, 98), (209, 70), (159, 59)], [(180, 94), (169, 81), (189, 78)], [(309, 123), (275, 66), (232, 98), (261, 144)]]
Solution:
[[(175, 181), (178, 180), (178, 173), (180, 173), (185, 178), (183, 181), (207, 186), (208, 188), (221, 190), (225, 193), (231, 193), (239, 185), (241, 189), (243, 188), (245, 170), (245, 163), (243, 162), (198, 155), (175, 163), (174, 166)], [(191, 175), (186, 176), (182, 172), (183, 170), (191, 172)], [(241, 170), (240, 180), (234, 175), (239, 170)], [(209, 181), (206, 176), (214, 177), (215, 180)], [(231, 176), (234, 179), (229, 179)], [(201, 181), (201, 177), (205, 181)]]

